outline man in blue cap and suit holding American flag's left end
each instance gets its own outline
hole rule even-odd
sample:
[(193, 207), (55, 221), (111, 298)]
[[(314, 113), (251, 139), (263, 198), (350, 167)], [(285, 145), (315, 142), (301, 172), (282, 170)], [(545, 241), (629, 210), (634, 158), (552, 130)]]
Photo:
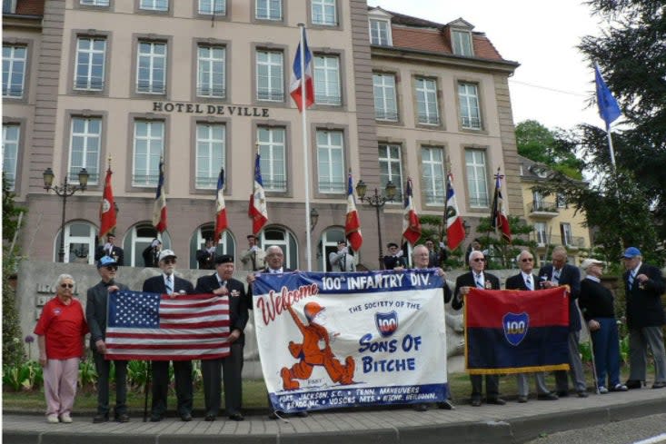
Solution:
[(106, 344), (106, 301), (113, 291), (128, 291), (129, 288), (115, 281), (118, 262), (111, 256), (102, 256), (97, 261), (97, 272), (102, 281), (89, 288), (85, 302), (85, 321), (90, 329), (90, 350), (93, 350), (94, 368), (97, 371), (97, 413), (95, 424), (109, 420), (109, 372), (111, 362), (115, 368), (115, 409), (114, 416), (118, 422), (127, 422), (127, 361), (105, 360)]

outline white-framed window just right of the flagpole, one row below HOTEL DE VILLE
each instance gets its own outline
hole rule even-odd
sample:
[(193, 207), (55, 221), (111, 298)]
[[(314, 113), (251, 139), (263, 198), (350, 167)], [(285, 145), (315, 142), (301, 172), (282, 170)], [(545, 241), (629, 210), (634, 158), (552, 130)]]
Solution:
[(346, 192), (342, 131), (317, 130), (319, 192)]

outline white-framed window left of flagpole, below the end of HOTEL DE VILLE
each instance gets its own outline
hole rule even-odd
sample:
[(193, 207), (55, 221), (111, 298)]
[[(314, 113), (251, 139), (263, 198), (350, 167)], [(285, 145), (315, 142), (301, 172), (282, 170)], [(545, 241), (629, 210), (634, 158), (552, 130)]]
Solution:
[(270, 192), (287, 191), (286, 131), (281, 127), (257, 128), (257, 143), (261, 154), (263, 189)]

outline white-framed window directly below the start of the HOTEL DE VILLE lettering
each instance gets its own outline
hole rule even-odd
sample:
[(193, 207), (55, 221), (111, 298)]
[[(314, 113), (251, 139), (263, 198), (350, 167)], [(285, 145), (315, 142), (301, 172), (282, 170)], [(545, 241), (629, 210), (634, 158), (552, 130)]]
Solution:
[(156, 186), (164, 153), (164, 122), (134, 121), (133, 186)]

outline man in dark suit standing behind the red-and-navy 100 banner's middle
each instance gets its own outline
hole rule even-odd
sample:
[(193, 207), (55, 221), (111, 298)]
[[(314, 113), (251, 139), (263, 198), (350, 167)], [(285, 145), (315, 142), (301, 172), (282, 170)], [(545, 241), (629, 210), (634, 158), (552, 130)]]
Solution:
[[(533, 291), (536, 290), (537, 279), (532, 274), (534, 269), (534, 256), (531, 252), (523, 250), (516, 258), (518, 266), (521, 267), (521, 272), (515, 276), (506, 279), (506, 290), (522, 290)], [(529, 297), (529, 296), (528, 296)], [(518, 382), (518, 402), (527, 402), (530, 395), (530, 382), (528, 380), (528, 373), (518, 373), (516, 375)], [(537, 400), (557, 400), (556, 394), (548, 390), (546, 386), (546, 377), (542, 371), (534, 373), (536, 379)]]

